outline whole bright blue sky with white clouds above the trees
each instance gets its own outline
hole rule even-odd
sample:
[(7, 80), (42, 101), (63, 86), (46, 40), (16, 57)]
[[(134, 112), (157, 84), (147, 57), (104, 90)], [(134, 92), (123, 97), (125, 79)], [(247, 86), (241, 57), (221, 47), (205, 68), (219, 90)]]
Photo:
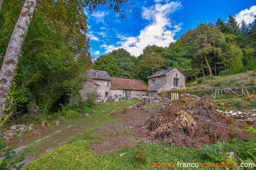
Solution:
[(138, 11), (126, 18), (101, 6), (88, 15), (88, 36), (93, 56), (107, 54), (124, 48), (138, 57), (147, 45), (168, 46), (184, 32), (200, 23), (215, 23), (220, 17), (224, 22), (229, 15), (237, 22), (253, 22), (256, 15), (255, 0), (149, 0), (134, 1)]

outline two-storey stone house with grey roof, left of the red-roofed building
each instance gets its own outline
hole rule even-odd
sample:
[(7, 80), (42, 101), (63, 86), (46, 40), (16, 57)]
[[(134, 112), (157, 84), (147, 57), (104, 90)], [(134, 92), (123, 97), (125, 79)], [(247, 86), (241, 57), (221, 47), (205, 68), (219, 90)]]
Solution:
[(83, 74), (86, 81), (83, 83), (83, 89), (79, 90), (83, 101), (86, 100), (86, 93), (97, 92), (97, 100), (108, 100), (111, 87), (111, 77), (106, 71), (89, 69)]

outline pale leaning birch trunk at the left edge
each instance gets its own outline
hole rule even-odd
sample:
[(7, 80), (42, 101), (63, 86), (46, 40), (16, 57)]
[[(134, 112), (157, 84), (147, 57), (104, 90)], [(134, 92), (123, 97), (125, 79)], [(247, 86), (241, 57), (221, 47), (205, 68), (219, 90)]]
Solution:
[(37, 0), (25, 1), (4, 55), (3, 64), (0, 70), (0, 120), (4, 113), (8, 89), (13, 80), (22, 41), (28, 29), (29, 22), (33, 17), (36, 1)]

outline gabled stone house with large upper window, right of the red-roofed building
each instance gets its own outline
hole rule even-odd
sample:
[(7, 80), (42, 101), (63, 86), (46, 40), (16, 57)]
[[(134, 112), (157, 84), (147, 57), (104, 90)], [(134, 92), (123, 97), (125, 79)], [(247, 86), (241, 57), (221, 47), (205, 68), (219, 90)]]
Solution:
[(173, 88), (184, 88), (185, 78), (179, 69), (172, 68), (164, 71), (158, 71), (151, 76), (148, 76), (148, 96), (157, 96), (157, 93), (170, 91)]

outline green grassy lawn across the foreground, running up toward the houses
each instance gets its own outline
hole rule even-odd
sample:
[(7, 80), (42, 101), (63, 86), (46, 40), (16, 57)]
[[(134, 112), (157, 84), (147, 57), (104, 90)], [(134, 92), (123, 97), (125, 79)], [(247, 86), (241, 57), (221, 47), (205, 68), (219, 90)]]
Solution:
[[(132, 100), (131, 102), (110, 103), (111, 105), (99, 104), (104, 109), (95, 111), (91, 117), (63, 122), (63, 127), (68, 124), (88, 124), (88, 127), (72, 140), (68, 141), (68, 143), (48, 153), (44, 153), (44, 149), (42, 148), (49, 141), (42, 140), (41, 143), (31, 144), (26, 150), (28, 154), (33, 154), (34, 156), (36, 154), (44, 154), (34, 162), (27, 164), (24, 169), (157, 169), (156, 167), (152, 167), (153, 163), (205, 162), (200, 157), (200, 152), (194, 148), (180, 148), (168, 144), (159, 146), (141, 143), (133, 147), (118, 150), (117, 152), (100, 155), (90, 152), (91, 146), (97, 143), (96, 139), (102, 138), (100, 136), (93, 136), (92, 133), (103, 125), (120, 121), (117, 116), (109, 117), (111, 112), (122, 111), (123, 108), (132, 106), (137, 102)], [(150, 104), (147, 106), (151, 108), (157, 105), (159, 104)], [(52, 136), (52, 138), (57, 137)], [(29, 153), (29, 150), (32, 150), (32, 152)], [(123, 157), (120, 157), (122, 153), (125, 154)], [(180, 167), (179, 169), (187, 168)]]

